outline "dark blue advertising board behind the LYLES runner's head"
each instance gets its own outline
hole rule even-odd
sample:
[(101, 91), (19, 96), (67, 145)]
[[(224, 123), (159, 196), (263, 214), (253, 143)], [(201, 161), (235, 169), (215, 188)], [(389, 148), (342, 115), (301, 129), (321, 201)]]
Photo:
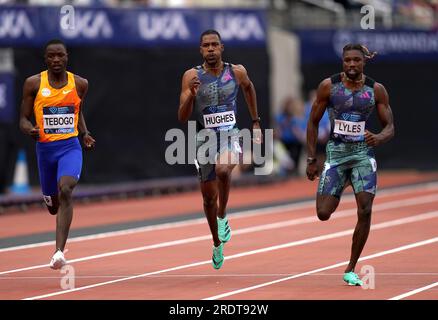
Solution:
[(300, 38), (303, 63), (340, 61), (347, 43), (361, 43), (377, 51), (377, 61), (438, 60), (438, 32), (417, 30), (303, 30)]

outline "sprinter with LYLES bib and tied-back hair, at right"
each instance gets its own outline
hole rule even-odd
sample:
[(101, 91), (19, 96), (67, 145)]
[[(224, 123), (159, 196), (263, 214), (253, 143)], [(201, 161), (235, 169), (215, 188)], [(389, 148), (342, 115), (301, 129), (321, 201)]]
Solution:
[[(343, 277), (348, 285), (354, 286), (363, 284), (354, 268), (368, 238), (377, 189), (373, 147), (394, 136), (388, 93), (383, 85), (363, 74), (365, 61), (374, 54), (361, 44), (348, 44), (343, 48), (343, 72), (321, 82), (307, 125), (307, 177), (313, 181), (319, 175), (315, 158), (318, 124), (328, 110), (331, 135), (316, 198), (318, 218), (322, 221), (330, 218), (347, 184), (352, 185), (356, 196), (358, 221), (350, 263)], [(368, 131), (368, 118), (374, 108), (382, 124), (378, 134)]]

